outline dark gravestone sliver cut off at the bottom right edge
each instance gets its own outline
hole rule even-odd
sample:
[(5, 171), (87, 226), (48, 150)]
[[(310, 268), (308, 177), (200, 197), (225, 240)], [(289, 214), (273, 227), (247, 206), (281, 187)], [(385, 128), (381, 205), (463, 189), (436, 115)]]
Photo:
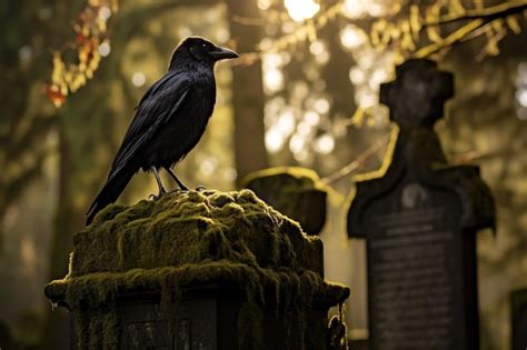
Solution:
[(527, 289), (510, 293), (511, 349), (527, 349)]

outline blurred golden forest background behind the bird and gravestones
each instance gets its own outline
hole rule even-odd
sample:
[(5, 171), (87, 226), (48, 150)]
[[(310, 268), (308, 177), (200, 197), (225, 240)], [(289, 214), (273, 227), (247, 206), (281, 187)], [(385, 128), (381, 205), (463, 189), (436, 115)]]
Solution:
[[(379, 84), (408, 57), (437, 59), (455, 73), (456, 96), (437, 131), (450, 161), (480, 164), (496, 197), (497, 234), (478, 236), (481, 339), (484, 349), (507, 349), (509, 292), (527, 287), (526, 7), (2, 1), (0, 332), (21, 348), (53, 349), (61, 311), (51, 313), (43, 284), (67, 273), (72, 234), (83, 228), (133, 107), (177, 43), (202, 36), (243, 54), (217, 68), (215, 114), (178, 174), (191, 187), (232, 190), (271, 166), (316, 170), (334, 189), (321, 233), (326, 276), (352, 289), (354, 338), (367, 328), (366, 259), (364, 243), (347, 240), (345, 213), (351, 176), (380, 166), (391, 129)], [(152, 177), (139, 173), (120, 202), (155, 192)]]

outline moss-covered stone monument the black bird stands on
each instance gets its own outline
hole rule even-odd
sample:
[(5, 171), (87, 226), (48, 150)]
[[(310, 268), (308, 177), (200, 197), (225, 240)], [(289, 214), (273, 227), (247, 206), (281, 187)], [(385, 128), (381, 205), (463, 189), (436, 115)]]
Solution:
[(81, 349), (326, 349), (349, 294), (324, 281), (321, 241), (248, 190), (110, 206), (73, 246), (46, 296)]

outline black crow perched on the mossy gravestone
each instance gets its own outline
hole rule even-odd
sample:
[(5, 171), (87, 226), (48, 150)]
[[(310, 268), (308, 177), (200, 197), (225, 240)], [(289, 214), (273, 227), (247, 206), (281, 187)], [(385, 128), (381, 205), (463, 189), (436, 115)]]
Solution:
[(159, 178), (161, 168), (181, 190), (187, 190), (171, 168), (198, 143), (212, 114), (215, 63), (237, 57), (236, 52), (198, 37), (187, 38), (176, 48), (167, 73), (139, 102), (108, 180), (88, 210), (86, 224), (117, 200), (139, 169), (153, 172), (159, 196), (166, 192)]

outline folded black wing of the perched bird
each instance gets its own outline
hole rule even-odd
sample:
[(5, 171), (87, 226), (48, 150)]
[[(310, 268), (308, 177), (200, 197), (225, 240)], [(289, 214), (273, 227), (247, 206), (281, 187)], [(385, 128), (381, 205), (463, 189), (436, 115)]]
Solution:
[(175, 116), (190, 89), (189, 79), (181, 73), (170, 72), (156, 82), (142, 97), (128, 128), (121, 147), (111, 166), (108, 179), (125, 167), (137, 151), (159, 130), (159, 127)]

